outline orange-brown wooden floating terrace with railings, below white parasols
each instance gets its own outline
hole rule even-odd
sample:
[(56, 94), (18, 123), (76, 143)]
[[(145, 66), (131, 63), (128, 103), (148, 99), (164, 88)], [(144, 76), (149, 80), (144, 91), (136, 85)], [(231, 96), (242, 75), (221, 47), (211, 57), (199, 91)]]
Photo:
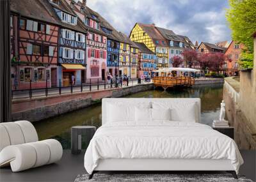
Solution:
[(164, 91), (173, 86), (193, 86), (195, 79), (193, 77), (154, 77), (154, 86), (163, 87)]

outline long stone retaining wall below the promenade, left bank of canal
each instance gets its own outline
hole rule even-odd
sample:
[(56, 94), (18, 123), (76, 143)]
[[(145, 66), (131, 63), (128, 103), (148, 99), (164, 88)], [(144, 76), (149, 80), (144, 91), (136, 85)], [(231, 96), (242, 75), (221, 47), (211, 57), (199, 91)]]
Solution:
[(122, 97), (140, 91), (153, 89), (153, 84), (141, 84), (137, 86), (108, 89), (103, 91), (92, 91), (90, 93), (73, 93), (61, 96), (49, 96), (47, 98), (36, 98), (22, 100), (12, 103), (12, 121), (28, 120), (31, 122), (58, 116), (65, 112), (88, 107), (100, 102), (106, 97)]

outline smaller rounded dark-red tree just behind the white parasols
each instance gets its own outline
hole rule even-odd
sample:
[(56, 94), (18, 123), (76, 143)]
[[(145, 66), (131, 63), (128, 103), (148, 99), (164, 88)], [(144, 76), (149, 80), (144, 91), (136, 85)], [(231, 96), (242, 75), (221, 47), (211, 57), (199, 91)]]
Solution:
[(194, 49), (185, 49), (182, 52), (182, 56), (185, 62), (185, 67), (191, 68), (198, 64), (198, 53)]

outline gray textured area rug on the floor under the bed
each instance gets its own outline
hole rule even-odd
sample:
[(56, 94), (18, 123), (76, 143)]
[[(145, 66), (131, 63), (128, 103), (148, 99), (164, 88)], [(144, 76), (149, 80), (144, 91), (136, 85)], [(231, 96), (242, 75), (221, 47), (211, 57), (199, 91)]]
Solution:
[(250, 179), (244, 178), (244, 176), (238, 176), (239, 179), (234, 179), (231, 174), (94, 174), (92, 179), (88, 179), (88, 174), (78, 175), (75, 182), (85, 181), (209, 181), (209, 182), (224, 182), (224, 181), (243, 181), (253, 182)]

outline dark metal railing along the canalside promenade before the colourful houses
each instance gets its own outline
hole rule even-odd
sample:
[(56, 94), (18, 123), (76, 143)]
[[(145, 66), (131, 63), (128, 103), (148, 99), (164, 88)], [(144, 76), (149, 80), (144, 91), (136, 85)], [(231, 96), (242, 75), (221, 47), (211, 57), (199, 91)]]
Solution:
[[(124, 85), (125, 83), (125, 85)], [(83, 93), (83, 92), (92, 92), (92, 91), (102, 91), (106, 89), (115, 89), (120, 87), (134, 86), (138, 84), (137, 79), (129, 79), (127, 82), (120, 81), (116, 82), (115, 80), (111, 80), (108, 83), (106, 80), (100, 81), (88, 79), (88, 83), (81, 83), (79, 85), (73, 85), (72, 82), (70, 86), (61, 86), (61, 80), (59, 86), (57, 87), (48, 87), (48, 83), (45, 83), (45, 87), (33, 88), (33, 84), (30, 80), (29, 89), (13, 89), (12, 90), (12, 100), (19, 100), (25, 98), (40, 98), (47, 96), (58, 96), (70, 93)], [(140, 83), (139, 83), (140, 84)], [(143, 83), (142, 83), (143, 84)]]

